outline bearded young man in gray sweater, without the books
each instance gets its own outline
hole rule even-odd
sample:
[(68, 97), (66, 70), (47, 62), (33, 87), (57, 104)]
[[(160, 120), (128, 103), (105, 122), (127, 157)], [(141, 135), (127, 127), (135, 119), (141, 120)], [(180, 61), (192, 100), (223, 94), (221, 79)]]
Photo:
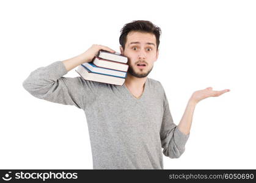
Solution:
[(84, 110), (93, 169), (163, 169), (163, 154), (178, 158), (185, 151), (197, 102), (228, 91), (195, 91), (180, 123), (174, 124), (163, 86), (147, 77), (158, 59), (160, 34), (161, 29), (150, 21), (133, 21), (122, 28), (120, 51), (129, 65), (122, 86), (62, 77), (91, 62), (100, 49), (115, 52), (102, 45), (40, 67), (23, 82), (37, 98)]

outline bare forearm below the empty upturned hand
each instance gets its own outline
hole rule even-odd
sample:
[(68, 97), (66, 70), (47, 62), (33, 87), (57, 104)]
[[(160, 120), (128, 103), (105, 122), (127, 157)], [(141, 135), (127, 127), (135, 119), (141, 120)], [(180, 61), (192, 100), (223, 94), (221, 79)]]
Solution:
[(185, 112), (183, 114), (183, 117), (181, 118), (180, 123), (178, 124), (178, 129), (180, 129), (180, 131), (186, 135), (189, 134), (191, 129), (192, 118), (193, 118), (195, 107), (196, 107), (196, 102), (192, 101), (192, 99), (189, 99)]

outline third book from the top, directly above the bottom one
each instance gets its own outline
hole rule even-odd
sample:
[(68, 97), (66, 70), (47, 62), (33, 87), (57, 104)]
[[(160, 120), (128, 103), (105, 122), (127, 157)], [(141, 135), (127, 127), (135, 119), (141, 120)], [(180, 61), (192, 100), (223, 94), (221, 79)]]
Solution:
[(126, 72), (124, 71), (111, 70), (109, 68), (101, 68), (94, 65), (92, 62), (82, 63), (82, 65), (86, 66), (86, 68), (92, 73), (107, 74), (115, 77), (126, 77)]

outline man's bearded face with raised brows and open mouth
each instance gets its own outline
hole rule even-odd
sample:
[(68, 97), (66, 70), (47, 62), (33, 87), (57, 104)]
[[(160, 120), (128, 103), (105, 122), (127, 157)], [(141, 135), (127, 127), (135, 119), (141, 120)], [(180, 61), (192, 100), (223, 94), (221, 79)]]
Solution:
[[(121, 53), (128, 57), (128, 73), (134, 77), (147, 77), (158, 59), (156, 37), (154, 34), (131, 31), (126, 37), (125, 50)], [(144, 66), (143, 66), (144, 65)]]

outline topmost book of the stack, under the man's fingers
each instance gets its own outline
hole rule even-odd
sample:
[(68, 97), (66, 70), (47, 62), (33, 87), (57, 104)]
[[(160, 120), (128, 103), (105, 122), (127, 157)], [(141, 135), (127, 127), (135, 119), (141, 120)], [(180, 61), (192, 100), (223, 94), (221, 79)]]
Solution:
[(97, 57), (100, 57), (101, 59), (112, 60), (115, 62), (122, 62), (122, 63), (128, 62), (128, 58), (123, 56), (119, 52), (109, 52), (109, 51), (100, 50), (98, 51)]

